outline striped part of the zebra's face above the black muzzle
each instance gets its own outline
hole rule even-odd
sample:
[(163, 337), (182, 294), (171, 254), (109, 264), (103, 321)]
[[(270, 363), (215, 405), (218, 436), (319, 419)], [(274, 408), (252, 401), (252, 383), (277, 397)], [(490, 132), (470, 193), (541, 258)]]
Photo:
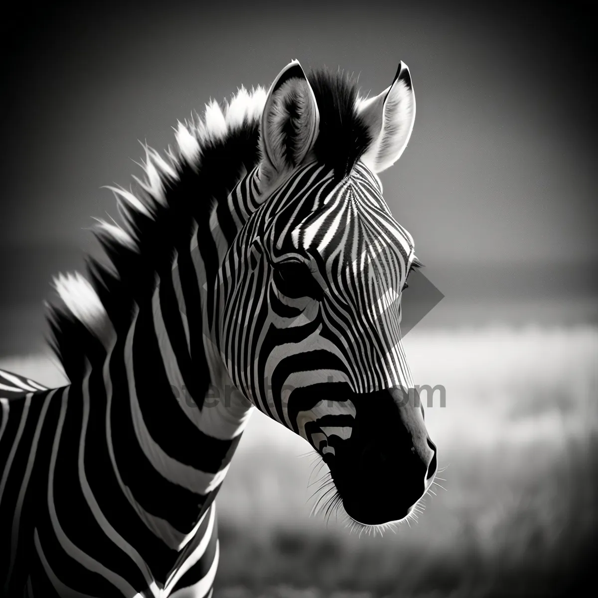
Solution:
[[(231, 194), (230, 212), (213, 213), (212, 230), (232, 244), (223, 252), (210, 321), (219, 326), (214, 336), (234, 386), (310, 440), (302, 419), (325, 416), (328, 428), (342, 428), (355, 415), (348, 400), (332, 412), (329, 400), (329, 407), (316, 405), (318, 392), (330, 399), (334, 385), (346, 385), (348, 398), (413, 386), (399, 331), (413, 239), (361, 162), (340, 182), (321, 164), (307, 164), (266, 202), (252, 193), (257, 176), (250, 173)], [(222, 225), (230, 213), (234, 226)], [(228, 235), (221, 232), (227, 227)], [(287, 261), (306, 266), (321, 297), (285, 297), (276, 267)]]

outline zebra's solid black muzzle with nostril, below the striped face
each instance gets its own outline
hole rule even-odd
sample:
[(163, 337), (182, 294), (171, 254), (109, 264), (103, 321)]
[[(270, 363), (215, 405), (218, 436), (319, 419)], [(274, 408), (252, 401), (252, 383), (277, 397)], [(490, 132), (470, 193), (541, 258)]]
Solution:
[(351, 437), (325, 456), (343, 507), (367, 525), (402, 519), (437, 469), (419, 396), (393, 388), (350, 399), (356, 408)]

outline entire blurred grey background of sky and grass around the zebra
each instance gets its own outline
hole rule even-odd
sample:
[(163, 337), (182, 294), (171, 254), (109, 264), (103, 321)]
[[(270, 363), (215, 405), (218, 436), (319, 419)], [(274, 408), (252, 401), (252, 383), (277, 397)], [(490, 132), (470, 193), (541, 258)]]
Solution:
[[(307, 444), (255, 413), (219, 495), (216, 596), (566, 596), (598, 491), (596, 111), (590, 2), (23, 4), (2, 25), (0, 367), (64, 382), (51, 276), (97, 254), (102, 185), (139, 174), (210, 97), (291, 59), (410, 67), (417, 118), (385, 198), (445, 298), (405, 337), (439, 449), (417, 522), (383, 537), (310, 517)], [(408, 293), (408, 291), (407, 291)], [(405, 295), (407, 300), (407, 295)], [(406, 309), (406, 308), (405, 308)], [(318, 463), (311, 481), (321, 476)]]

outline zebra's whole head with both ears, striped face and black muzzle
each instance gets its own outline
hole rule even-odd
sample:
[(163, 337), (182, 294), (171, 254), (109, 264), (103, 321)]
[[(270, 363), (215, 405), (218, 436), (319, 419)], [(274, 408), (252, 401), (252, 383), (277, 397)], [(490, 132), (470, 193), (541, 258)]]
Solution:
[(377, 176), (414, 116), (403, 63), (366, 100), (340, 75), (286, 66), (261, 117), (261, 162), (231, 194), (251, 213), (218, 273), (234, 386), (318, 451), (362, 524), (406, 517), (437, 468), (399, 331), (414, 243)]

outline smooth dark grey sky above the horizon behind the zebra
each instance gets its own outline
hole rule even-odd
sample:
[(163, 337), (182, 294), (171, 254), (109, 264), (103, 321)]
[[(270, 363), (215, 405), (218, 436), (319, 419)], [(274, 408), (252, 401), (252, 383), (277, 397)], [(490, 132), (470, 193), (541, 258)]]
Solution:
[(177, 119), (269, 86), (291, 59), (355, 72), (373, 94), (410, 67), (416, 124), (382, 179), (429, 272), (598, 258), (584, 4), (202, 4), (27, 5), (5, 25), (4, 304), (39, 302), (51, 273), (80, 266), (91, 216), (116, 213), (100, 187), (139, 174), (138, 139), (165, 148)]

